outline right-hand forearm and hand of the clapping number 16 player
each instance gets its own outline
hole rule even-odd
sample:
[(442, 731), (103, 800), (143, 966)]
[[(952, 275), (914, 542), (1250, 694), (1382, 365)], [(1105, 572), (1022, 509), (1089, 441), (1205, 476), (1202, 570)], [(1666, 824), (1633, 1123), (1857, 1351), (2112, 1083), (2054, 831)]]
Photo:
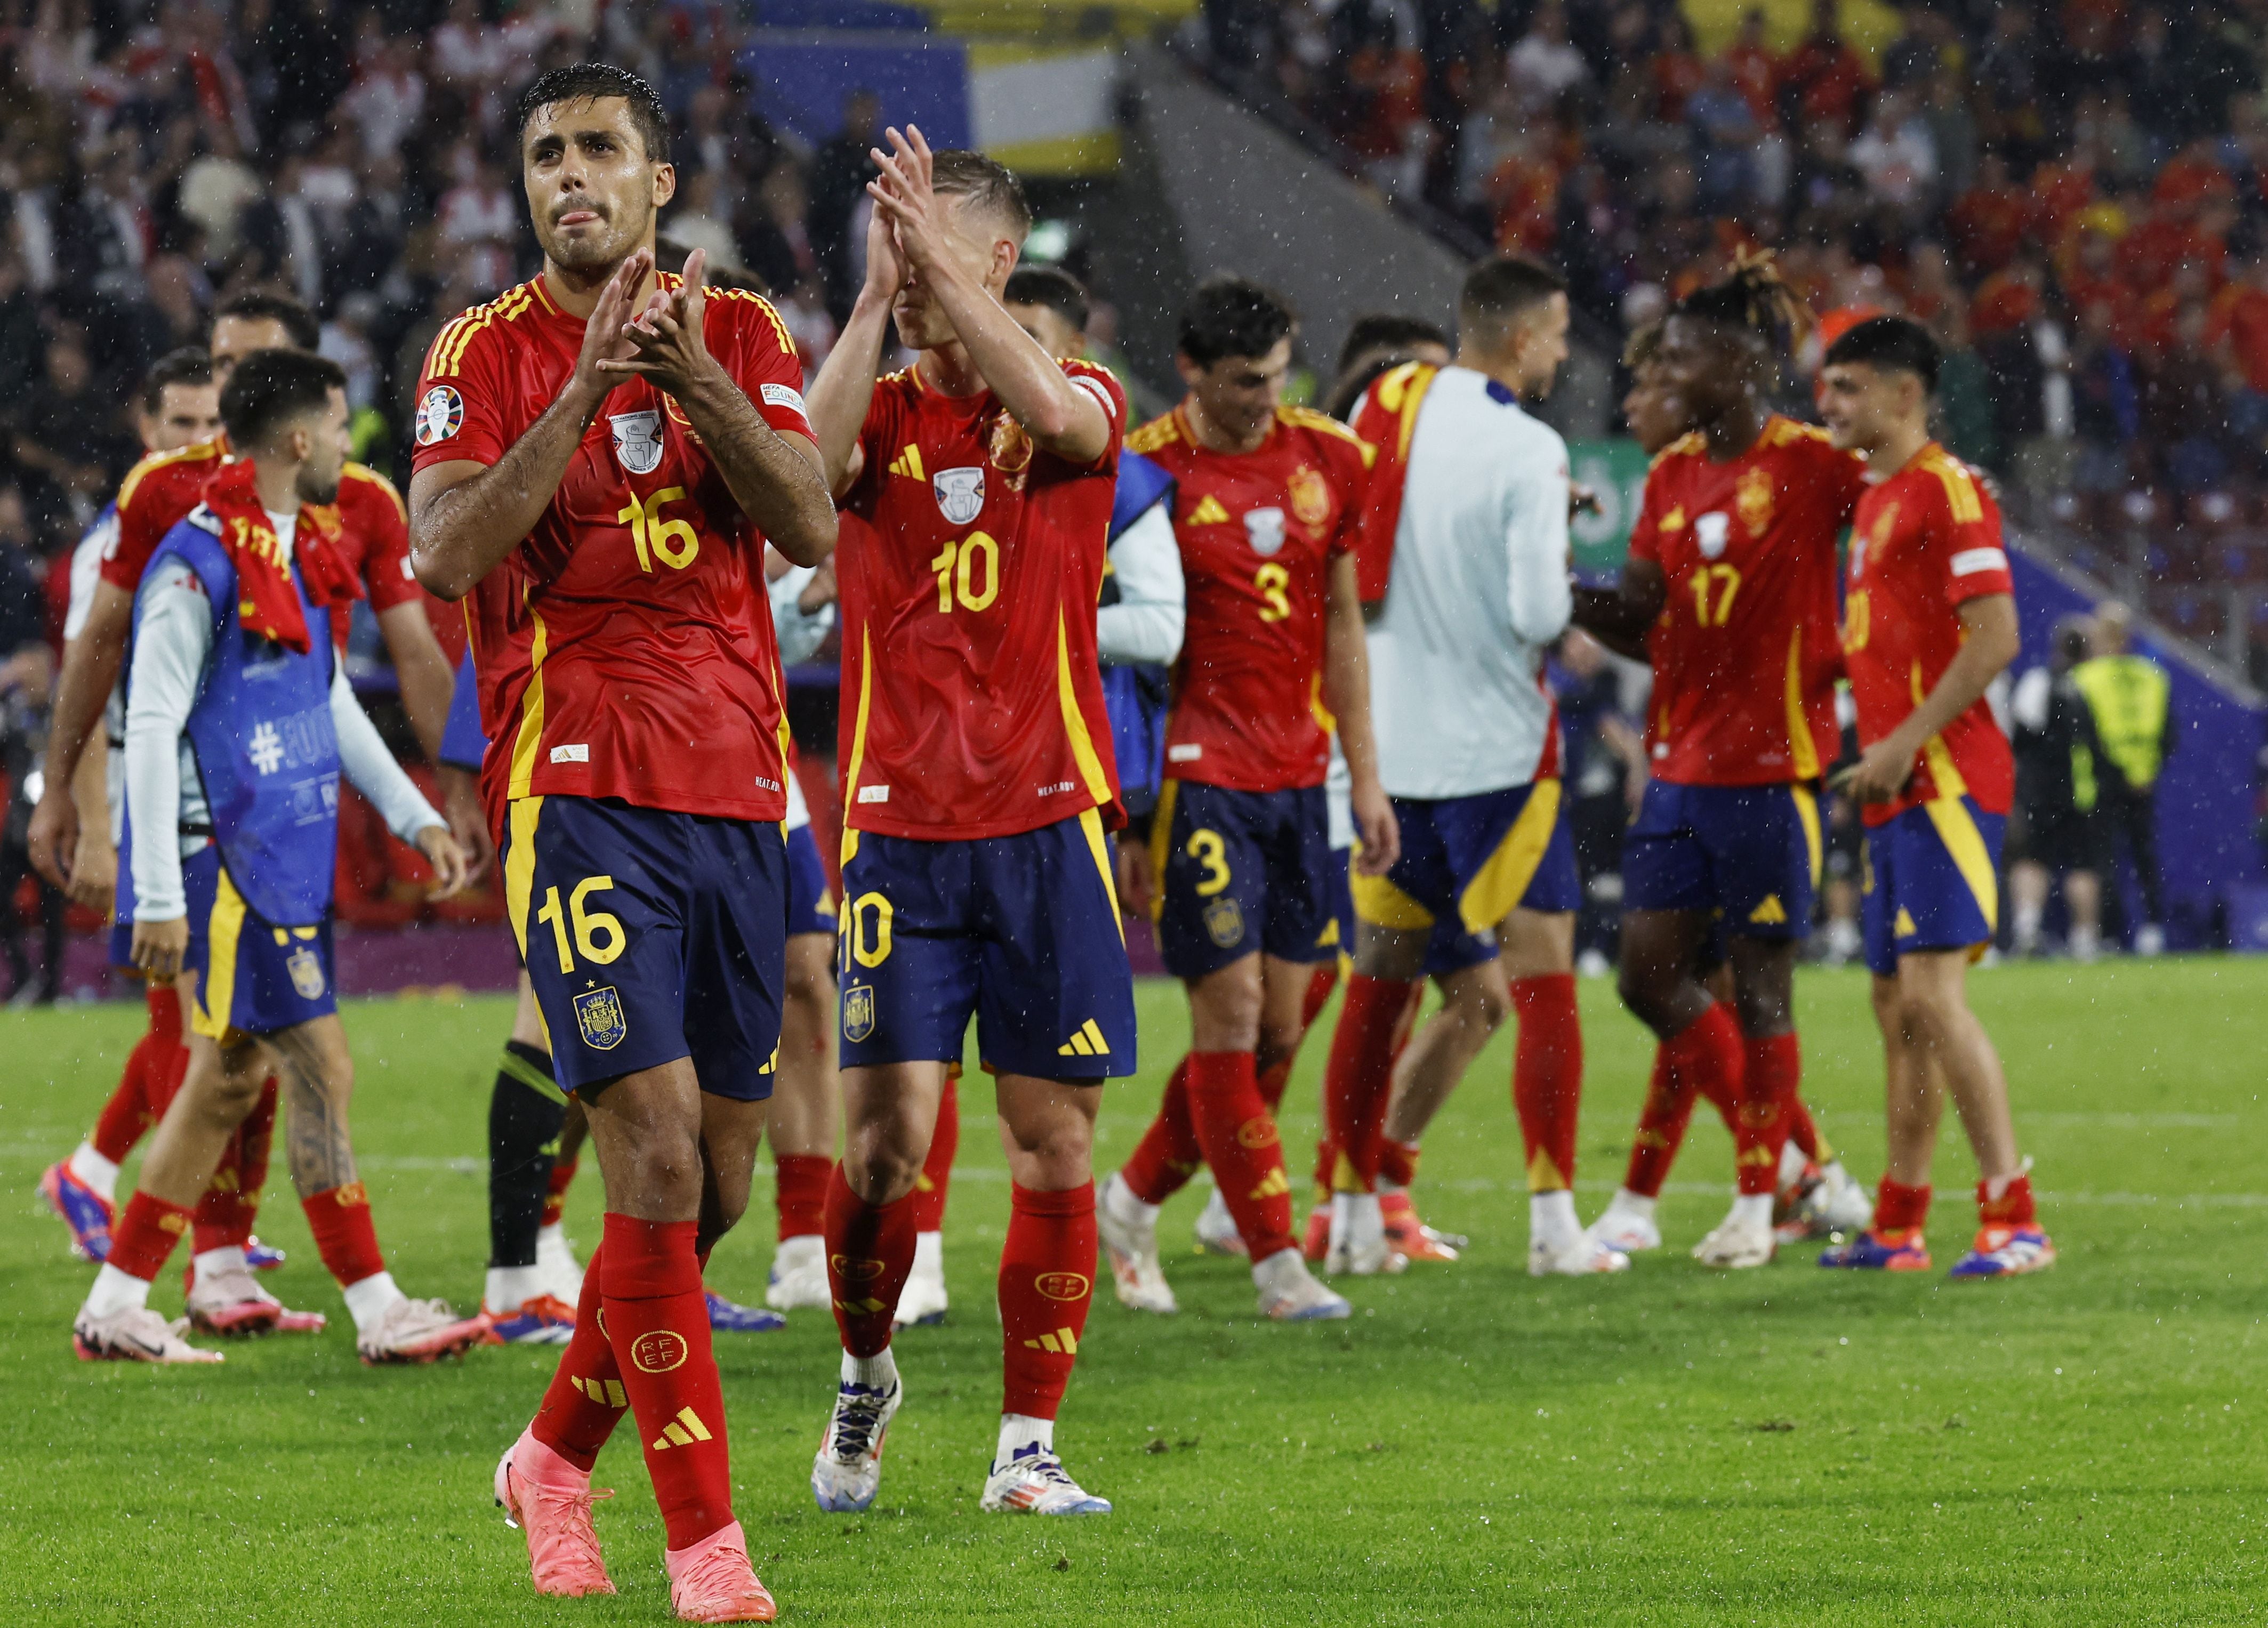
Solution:
[(603, 358), (599, 372), (649, 379), (665, 390), (685, 408), (739, 512), (796, 565), (819, 565), (835, 553), (835, 501), (819, 447), (794, 431), (771, 429), (739, 381), (710, 354), (703, 331), (705, 270), (708, 252), (694, 249), (685, 258), (685, 279), (676, 288), (658, 288), (621, 331), (631, 356)]

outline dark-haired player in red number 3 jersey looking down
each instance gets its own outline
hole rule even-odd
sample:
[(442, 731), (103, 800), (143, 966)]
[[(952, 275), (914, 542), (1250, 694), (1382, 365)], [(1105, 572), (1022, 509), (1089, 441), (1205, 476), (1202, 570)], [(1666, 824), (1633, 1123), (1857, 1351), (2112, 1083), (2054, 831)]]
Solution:
[[(1150, 871), (1166, 970), (1188, 986), (1191, 1054), (1159, 1118), (1175, 1118), (1173, 1091), (1184, 1091), (1261, 1313), (1309, 1322), (1349, 1306), (1293, 1243), (1284, 1145), (1259, 1082), (1297, 1050), (1313, 966), (1338, 955), (1327, 712), (1352, 778), (1356, 864), (1381, 875), (1399, 843), (1354, 592), (1372, 449), (1338, 419), (1281, 404), (1290, 347), (1279, 295), (1238, 277), (1202, 283), (1182, 308), (1175, 358), (1188, 395), (1127, 447), (1175, 478), (1188, 599)], [(1139, 1311), (1175, 1311), (1157, 1258), (1173, 1175), (1136, 1150), (1100, 1195), (1118, 1299)]]

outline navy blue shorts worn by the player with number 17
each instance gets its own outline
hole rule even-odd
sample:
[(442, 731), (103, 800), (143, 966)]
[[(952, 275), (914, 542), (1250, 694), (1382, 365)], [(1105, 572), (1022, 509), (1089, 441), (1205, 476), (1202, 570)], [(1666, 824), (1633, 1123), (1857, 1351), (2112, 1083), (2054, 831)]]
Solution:
[(1803, 939), (1819, 889), (1810, 787), (1647, 782), (1622, 839), (1624, 909), (1717, 911), (1737, 939)]

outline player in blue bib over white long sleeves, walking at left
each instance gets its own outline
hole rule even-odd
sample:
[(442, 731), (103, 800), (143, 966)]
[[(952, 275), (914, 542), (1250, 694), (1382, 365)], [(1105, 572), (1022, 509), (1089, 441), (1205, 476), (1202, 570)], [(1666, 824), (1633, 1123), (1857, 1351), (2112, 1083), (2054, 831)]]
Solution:
[[(73, 1340), (82, 1358), (218, 1360), (150, 1311), (150, 1283), (274, 1070), (290, 1100), (293, 1186), (363, 1360), (433, 1360), (483, 1324), (395, 1288), (354, 1172), (354, 1066), (331, 975), (338, 773), (417, 843), (438, 893), (463, 887), (465, 855), (386, 753), (331, 646), (352, 574), (322, 544), (295, 549), (304, 506), (338, 494), (345, 374), (304, 351), (256, 351), (220, 413), (238, 458), (150, 560), (127, 685), (134, 959), (152, 977), (197, 973), (191, 1063)], [(200, 1299), (243, 1311), (231, 1333), (274, 1326), (281, 1311), (240, 1249), (200, 1256), (193, 1311)]]

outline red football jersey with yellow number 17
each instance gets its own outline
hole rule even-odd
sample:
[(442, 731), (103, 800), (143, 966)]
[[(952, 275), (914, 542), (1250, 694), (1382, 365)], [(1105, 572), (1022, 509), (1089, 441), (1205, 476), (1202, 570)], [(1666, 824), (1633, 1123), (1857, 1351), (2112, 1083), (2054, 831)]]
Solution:
[(1653, 460), (1631, 558), (1669, 578), (1647, 633), (1656, 780), (1812, 780), (1835, 757), (1835, 540), (1864, 481), (1826, 431), (1778, 415), (1726, 463), (1699, 433)]

